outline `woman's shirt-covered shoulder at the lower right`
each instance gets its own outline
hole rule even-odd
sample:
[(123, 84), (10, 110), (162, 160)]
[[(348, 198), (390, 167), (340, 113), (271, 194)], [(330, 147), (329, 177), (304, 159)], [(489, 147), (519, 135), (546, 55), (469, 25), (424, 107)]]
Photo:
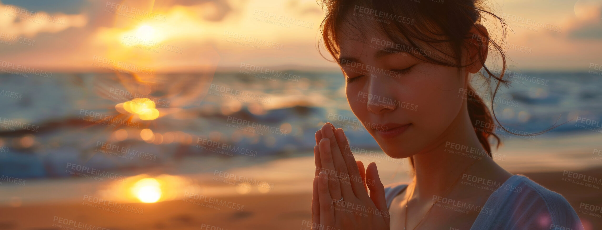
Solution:
[(509, 229), (583, 229), (565, 197), (523, 175), (514, 175), (501, 184), (485, 206), (495, 216), (510, 220), (506, 222), (512, 226)]

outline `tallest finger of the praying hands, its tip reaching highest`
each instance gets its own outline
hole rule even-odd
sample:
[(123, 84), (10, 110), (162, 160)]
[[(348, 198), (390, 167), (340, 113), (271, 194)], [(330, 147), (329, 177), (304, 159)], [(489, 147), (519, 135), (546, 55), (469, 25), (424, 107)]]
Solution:
[(349, 172), (347, 172), (347, 164), (343, 159), (343, 153), (339, 149), (337, 138), (335, 138), (334, 126), (331, 123), (326, 123), (324, 124), (324, 126), (322, 126), (321, 130), (322, 137), (327, 138), (327, 140), (329, 140), (330, 153), (332, 154), (332, 161), (335, 166), (335, 170), (337, 170), (338, 179), (347, 178), (345, 180), (340, 181), (341, 194), (343, 194), (343, 197), (345, 197), (345, 199), (347, 200), (355, 199), (356, 196), (353, 193), (353, 189), (350, 183), (350, 181), (352, 181), (352, 179), (354, 178), (352, 178), (351, 175), (349, 175)]

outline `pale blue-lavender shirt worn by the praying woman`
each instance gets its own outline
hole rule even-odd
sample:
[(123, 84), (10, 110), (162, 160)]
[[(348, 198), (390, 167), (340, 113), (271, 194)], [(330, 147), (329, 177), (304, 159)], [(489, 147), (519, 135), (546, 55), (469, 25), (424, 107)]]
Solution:
[[(388, 208), (406, 187), (402, 183), (385, 186)], [(583, 230), (579, 216), (562, 195), (523, 175), (510, 176), (479, 211), (471, 230)]]

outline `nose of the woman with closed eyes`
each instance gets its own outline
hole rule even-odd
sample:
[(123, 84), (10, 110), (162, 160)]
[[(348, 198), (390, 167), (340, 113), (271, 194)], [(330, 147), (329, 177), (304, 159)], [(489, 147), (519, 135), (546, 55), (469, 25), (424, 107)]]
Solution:
[(382, 114), (395, 110), (399, 101), (388, 96), (391, 95), (389, 92), (395, 89), (390, 89), (390, 85), (386, 84), (386, 82), (379, 82), (375, 77), (370, 78), (367, 101), (368, 111), (375, 114)]

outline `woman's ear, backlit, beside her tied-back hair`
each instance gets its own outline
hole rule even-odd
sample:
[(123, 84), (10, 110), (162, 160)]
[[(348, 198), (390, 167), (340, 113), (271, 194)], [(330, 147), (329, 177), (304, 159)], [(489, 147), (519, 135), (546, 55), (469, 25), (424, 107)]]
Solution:
[(481, 24), (474, 24), (473, 28), (470, 29), (468, 34), (470, 39), (465, 40), (465, 45), (468, 51), (468, 58), (466, 61), (470, 66), (466, 67), (466, 70), (470, 73), (477, 73), (485, 64), (487, 59), (487, 53), (489, 51), (489, 33), (487, 28)]

